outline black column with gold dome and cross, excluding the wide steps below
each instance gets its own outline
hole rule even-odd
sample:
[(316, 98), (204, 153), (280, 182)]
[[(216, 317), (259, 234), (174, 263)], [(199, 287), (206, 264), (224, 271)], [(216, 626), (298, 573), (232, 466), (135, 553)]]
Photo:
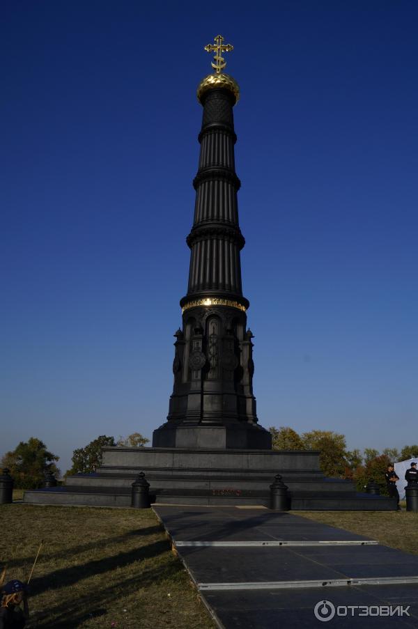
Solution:
[(183, 326), (176, 332), (174, 387), (167, 424), (153, 433), (154, 447), (271, 449), (258, 425), (252, 388), (252, 334), (242, 295), (233, 107), (240, 91), (222, 72), (222, 52), (233, 47), (217, 36), (215, 73), (197, 90), (203, 107), (199, 170), (194, 178), (194, 223)]

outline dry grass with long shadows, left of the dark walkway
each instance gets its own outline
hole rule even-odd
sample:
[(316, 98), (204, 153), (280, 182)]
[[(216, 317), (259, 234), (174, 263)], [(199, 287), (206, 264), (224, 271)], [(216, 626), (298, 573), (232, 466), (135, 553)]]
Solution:
[(10, 504), (0, 518), (8, 580), (27, 580), (44, 540), (31, 628), (214, 628), (150, 509)]

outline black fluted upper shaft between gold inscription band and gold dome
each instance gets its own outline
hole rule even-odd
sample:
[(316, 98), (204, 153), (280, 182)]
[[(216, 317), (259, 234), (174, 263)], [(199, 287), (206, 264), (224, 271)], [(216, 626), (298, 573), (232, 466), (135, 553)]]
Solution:
[(203, 100), (194, 223), (187, 237), (191, 249), (187, 296), (242, 296), (240, 249), (245, 240), (238, 223), (234, 102), (224, 89), (211, 90)]

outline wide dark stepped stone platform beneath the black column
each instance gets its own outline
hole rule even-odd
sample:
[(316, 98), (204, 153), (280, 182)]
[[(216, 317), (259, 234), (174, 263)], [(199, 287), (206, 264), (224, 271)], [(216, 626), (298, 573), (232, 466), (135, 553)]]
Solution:
[(326, 478), (319, 453), (311, 450), (104, 448), (94, 474), (68, 476), (57, 488), (26, 491), (24, 502), (130, 506), (139, 472), (145, 473), (157, 503), (269, 506), (270, 484), (281, 474), (292, 510), (396, 510), (393, 498), (359, 494), (350, 481)]

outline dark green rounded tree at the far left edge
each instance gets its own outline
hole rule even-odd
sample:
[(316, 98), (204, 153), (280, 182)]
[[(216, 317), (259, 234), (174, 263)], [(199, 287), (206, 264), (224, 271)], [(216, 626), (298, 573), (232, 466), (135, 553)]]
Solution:
[(1, 466), (8, 467), (15, 479), (17, 489), (38, 489), (43, 486), (45, 472), (60, 475), (54, 461), (59, 460), (47, 450), (44, 442), (31, 437), (27, 442), (21, 441), (13, 451), (6, 452), (1, 459)]

